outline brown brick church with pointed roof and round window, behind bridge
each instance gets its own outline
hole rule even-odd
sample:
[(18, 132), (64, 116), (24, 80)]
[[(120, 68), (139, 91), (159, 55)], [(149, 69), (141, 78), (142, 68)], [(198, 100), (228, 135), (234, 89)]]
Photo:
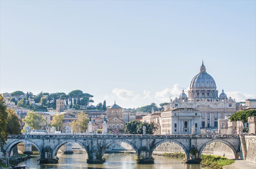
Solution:
[(122, 115), (123, 108), (117, 104), (113, 104), (107, 108), (107, 130), (111, 133), (124, 133), (125, 122)]

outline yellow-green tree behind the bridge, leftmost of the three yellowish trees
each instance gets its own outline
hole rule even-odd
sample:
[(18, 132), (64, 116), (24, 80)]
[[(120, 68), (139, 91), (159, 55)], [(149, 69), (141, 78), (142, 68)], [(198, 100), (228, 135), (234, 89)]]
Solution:
[(30, 126), (32, 129), (43, 129), (45, 120), (43, 115), (35, 113), (33, 110), (27, 112), (27, 116), (23, 119), (25, 126)]

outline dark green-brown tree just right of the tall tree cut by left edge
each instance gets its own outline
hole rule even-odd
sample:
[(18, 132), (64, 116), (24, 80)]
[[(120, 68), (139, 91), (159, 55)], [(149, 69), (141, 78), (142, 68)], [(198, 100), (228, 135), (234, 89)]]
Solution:
[(8, 134), (21, 134), (21, 120), (14, 111), (14, 109), (6, 109), (7, 116), (7, 131)]

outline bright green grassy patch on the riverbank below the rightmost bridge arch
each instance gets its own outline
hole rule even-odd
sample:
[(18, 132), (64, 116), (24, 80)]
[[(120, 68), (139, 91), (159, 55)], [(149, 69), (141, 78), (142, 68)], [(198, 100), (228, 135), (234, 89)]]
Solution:
[(212, 156), (212, 155), (201, 155), (201, 166), (211, 167), (213, 169), (222, 169), (223, 166), (234, 163), (234, 160), (227, 159), (226, 157)]

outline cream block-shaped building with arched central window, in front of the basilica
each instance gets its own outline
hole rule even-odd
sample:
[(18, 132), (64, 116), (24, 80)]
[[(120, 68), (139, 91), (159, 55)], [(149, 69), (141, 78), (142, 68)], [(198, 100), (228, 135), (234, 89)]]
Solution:
[(161, 134), (200, 134), (200, 111), (194, 108), (172, 108), (161, 113), (159, 118)]

